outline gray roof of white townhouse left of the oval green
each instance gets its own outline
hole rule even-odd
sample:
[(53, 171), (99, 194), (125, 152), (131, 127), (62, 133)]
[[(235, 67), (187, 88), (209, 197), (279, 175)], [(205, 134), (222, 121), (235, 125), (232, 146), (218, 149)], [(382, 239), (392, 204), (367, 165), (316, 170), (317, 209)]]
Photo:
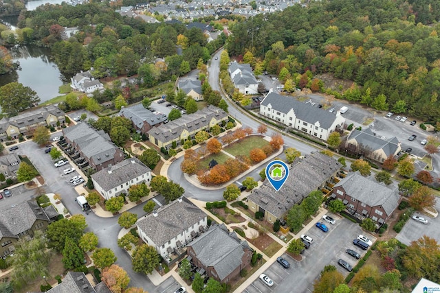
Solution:
[(92, 174), (91, 178), (95, 180), (102, 189), (109, 191), (122, 183), (129, 182), (131, 179), (142, 176), (142, 174), (147, 174), (148, 172), (151, 172), (150, 168), (146, 167), (146, 165), (138, 159), (130, 158)]

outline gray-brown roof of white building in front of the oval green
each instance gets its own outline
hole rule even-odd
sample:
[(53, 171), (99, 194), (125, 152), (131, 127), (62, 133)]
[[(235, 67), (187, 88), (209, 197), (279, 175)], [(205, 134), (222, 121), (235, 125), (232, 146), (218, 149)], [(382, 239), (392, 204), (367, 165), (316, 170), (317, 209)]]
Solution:
[(189, 202), (186, 198), (175, 200), (137, 222), (140, 228), (156, 246), (162, 246), (190, 226), (206, 218), (206, 213)]

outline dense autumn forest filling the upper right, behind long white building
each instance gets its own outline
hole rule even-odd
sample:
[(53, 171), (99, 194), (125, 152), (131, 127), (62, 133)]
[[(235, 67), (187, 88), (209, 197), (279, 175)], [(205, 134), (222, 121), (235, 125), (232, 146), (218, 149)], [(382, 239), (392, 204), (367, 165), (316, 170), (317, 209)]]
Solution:
[(236, 23), (226, 47), (233, 56), (249, 51), (254, 66), (272, 74), (284, 67), (292, 77), (310, 71), (353, 80), (355, 86), (336, 96), (437, 121), (439, 5), (420, 0), (295, 5)]

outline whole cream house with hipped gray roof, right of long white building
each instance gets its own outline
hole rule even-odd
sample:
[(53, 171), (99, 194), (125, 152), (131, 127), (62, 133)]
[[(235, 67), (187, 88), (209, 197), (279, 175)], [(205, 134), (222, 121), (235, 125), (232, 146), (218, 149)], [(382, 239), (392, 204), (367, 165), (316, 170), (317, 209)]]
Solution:
[(384, 163), (388, 156), (396, 156), (401, 150), (397, 137), (391, 139), (376, 137), (370, 128), (353, 130), (345, 143), (345, 148), (353, 154), (362, 154), (378, 163)]

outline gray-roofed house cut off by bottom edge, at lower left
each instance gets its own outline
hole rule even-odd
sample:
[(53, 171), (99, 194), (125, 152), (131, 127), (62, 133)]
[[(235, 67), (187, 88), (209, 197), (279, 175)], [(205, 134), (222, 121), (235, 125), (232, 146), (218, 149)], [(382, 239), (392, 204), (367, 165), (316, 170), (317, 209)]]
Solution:
[(46, 293), (111, 293), (111, 290), (103, 281), (94, 286), (84, 272), (67, 272), (63, 281)]

